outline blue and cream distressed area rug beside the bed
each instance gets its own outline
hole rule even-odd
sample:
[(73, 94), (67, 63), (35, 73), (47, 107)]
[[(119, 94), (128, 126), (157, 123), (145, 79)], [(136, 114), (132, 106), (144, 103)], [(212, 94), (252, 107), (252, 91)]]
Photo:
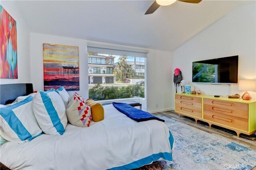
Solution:
[(157, 117), (165, 120), (174, 137), (173, 166), (162, 160), (138, 170), (250, 170), (256, 166), (256, 150), (166, 116)]

